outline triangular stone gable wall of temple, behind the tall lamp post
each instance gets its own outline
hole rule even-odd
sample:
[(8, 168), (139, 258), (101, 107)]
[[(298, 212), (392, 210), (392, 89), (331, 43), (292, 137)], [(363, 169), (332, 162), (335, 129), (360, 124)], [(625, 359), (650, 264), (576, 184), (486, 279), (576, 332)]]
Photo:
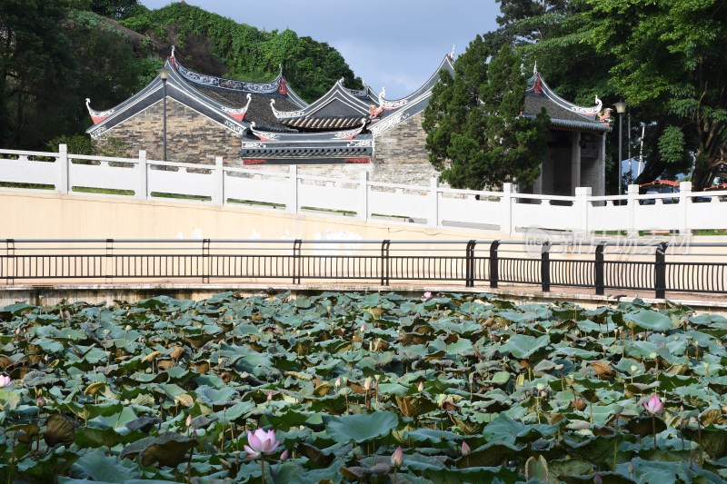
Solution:
[[(127, 153), (120, 157), (136, 158), (146, 150), (149, 160), (163, 158), (161, 102), (153, 104), (124, 123), (116, 125), (96, 138), (96, 143), (108, 144), (113, 138), (124, 143)], [(208, 117), (199, 114), (174, 99), (166, 99), (166, 159), (178, 163), (214, 163), (222, 156), (225, 164), (239, 161), (241, 135), (234, 133)]]

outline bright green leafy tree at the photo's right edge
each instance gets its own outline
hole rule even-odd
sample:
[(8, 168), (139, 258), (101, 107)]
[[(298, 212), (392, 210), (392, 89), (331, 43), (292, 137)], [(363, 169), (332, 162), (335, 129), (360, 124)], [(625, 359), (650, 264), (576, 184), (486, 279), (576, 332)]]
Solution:
[(591, 3), (588, 40), (615, 58), (610, 82), (627, 102), (658, 114), (653, 151), (665, 165), (692, 153), (694, 188), (708, 186), (727, 163), (727, 3)]

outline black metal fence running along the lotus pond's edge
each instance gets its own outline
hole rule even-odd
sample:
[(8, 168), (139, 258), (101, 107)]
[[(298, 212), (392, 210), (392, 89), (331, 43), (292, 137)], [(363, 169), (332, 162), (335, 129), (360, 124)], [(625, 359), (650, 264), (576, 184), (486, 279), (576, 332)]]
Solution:
[(725, 242), (14, 240), (5, 284), (132, 280), (432, 281), (727, 293)]

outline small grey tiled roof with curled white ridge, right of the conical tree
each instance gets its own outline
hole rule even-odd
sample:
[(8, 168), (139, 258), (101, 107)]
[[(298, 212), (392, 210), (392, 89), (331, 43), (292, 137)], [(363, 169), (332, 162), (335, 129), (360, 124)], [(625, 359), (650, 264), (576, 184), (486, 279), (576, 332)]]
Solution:
[(601, 114), (603, 103), (596, 97), (594, 106), (579, 106), (564, 100), (545, 84), (541, 74), (533, 70), (533, 77), (528, 80), (528, 90), (525, 92), (525, 105), (523, 115), (534, 117), (541, 109), (551, 118), (554, 127), (565, 129), (578, 129), (596, 132), (611, 131), (611, 112), (607, 108)]

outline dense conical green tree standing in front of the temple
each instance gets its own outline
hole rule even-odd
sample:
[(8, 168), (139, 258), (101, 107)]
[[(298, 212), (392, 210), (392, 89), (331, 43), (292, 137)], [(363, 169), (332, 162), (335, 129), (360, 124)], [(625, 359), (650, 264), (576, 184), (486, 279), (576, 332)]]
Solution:
[(426, 147), (442, 178), (455, 188), (480, 190), (505, 182), (530, 185), (540, 173), (550, 119), (520, 115), (526, 78), (509, 44), (493, 52), (477, 35), (442, 72), (424, 110)]

